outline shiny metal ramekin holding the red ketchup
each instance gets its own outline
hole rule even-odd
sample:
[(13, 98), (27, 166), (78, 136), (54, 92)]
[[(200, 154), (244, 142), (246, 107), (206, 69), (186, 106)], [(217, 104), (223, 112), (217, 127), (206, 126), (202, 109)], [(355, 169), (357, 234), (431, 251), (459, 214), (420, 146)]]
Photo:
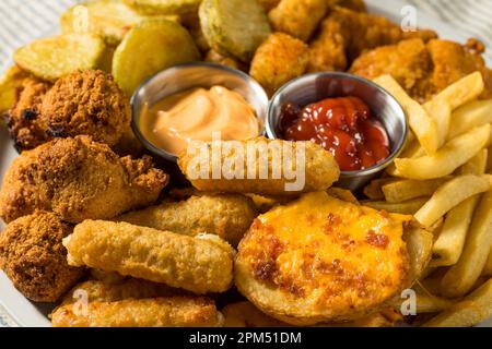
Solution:
[(408, 134), (408, 123), (403, 109), (384, 88), (375, 83), (347, 73), (314, 73), (295, 79), (282, 86), (273, 96), (268, 108), (267, 135), (281, 139), (277, 134), (281, 106), (292, 101), (301, 107), (330, 97), (354, 96), (367, 104), (386, 129), (391, 154), (384, 161), (360, 171), (342, 171), (337, 186), (359, 191), (380, 173), (401, 153)]

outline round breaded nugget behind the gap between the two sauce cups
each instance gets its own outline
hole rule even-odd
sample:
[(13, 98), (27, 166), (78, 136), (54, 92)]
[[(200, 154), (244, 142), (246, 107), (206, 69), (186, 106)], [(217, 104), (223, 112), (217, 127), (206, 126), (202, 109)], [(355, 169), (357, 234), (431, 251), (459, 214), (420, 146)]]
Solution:
[(288, 34), (273, 33), (257, 49), (249, 70), (269, 96), (301, 76), (309, 61), (307, 45)]

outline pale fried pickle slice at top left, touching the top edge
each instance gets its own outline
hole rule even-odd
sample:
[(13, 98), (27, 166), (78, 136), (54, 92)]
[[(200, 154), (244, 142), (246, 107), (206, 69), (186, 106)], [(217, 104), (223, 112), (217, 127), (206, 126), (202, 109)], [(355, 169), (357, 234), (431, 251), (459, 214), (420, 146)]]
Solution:
[[(139, 14), (120, 0), (97, 0), (70, 8), (60, 19), (63, 33), (93, 33), (112, 46), (118, 45), (128, 31), (148, 16)], [(177, 16), (168, 20), (178, 21)]]

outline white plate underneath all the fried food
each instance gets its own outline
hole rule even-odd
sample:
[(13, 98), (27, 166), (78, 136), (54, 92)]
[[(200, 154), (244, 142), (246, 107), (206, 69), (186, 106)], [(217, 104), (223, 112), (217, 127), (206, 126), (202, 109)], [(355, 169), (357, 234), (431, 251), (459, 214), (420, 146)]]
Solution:
[[(370, 11), (383, 14), (396, 23), (401, 23), (401, 10), (406, 5), (405, 1), (383, 1), (383, 0), (366, 0)], [(420, 27), (431, 28), (436, 31), (442, 38), (452, 39), (455, 41), (465, 43), (468, 35), (457, 32), (452, 26), (438, 22), (425, 13), (419, 12), (417, 14), (418, 25)], [(491, 62), (489, 62), (491, 63)], [(4, 129), (0, 130), (0, 180), (9, 168), (12, 160), (17, 156), (12, 147), (9, 135)], [(0, 220), (0, 229), (3, 224)], [(44, 327), (50, 326), (46, 314), (50, 310), (49, 304), (35, 304), (30, 302), (12, 286), (7, 276), (0, 272), (0, 304), (10, 313), (14, 322), (21, 326)], [(492, 318), (481, 324), (481, 326), (492, 327)]]

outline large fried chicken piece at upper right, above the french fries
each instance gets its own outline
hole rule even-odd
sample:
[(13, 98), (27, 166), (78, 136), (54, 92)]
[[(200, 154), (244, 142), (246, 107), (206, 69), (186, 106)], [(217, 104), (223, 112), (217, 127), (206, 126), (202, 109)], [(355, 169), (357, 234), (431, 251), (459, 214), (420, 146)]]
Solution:
[(367, 79), (391, 74), (407, 93), (420, 103), (430, 100), (450, 84), (476, 71), (482, 73), (485, 91), (492, 98), (492, 71), (481, 56), (483, 46), (470, 40), (466, 46), (447, 40), (400, 41), (363, 53), (350, 72)]

